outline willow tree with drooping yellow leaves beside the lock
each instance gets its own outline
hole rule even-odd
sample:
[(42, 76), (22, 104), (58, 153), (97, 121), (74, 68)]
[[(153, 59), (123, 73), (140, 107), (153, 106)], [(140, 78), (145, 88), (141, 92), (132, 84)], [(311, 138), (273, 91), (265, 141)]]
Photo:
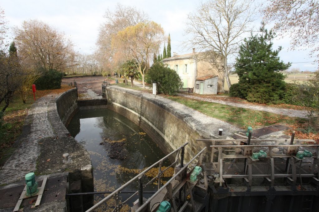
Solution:
[(164, 41), (164, 30), (153, 21), (141, 22), (119, 31), (112, 39), (115, 60), (132, 60), (142, 75), (145, 88), (145, 72), (154, 53), (158, 53)]

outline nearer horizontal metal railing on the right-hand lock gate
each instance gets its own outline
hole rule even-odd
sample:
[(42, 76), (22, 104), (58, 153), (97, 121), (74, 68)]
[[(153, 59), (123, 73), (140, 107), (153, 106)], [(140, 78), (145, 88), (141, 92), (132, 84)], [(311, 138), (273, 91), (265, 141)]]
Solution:
[[(249, 186), (251, 186), (253, 178), (266, 178), (273, 186), (275, 178), (284, 177), (296, 182), (298, 177), (315, 177), (319, 145), (214, 145), (211, 147), (218, 149), (218, 162), (212, 162), (212, 165), (216, 173), (219, 174), (220, 185), (224, 182), (224, 178), (244, 178)], [(312, 150), (313, 156), (311, 158), (314, 161), (303, 161), (297, 158), (295, 155), (300, 147)], [(274, 148), (277, 148), (277, 151), (281, 150), (281, 154), (273, 152)], [(253, 152), (261, 149), (267, 153), (266, 161), (259, 161), (251, 156)], [(275, 158), (286, 158), (287, 166), (285, 166), (285, 162), (275, 162)], [(227, 159), (245, 159), (245, 162), (226, 162)], [(298, 161), (300, 161), (299, 166), (296, 164)]]

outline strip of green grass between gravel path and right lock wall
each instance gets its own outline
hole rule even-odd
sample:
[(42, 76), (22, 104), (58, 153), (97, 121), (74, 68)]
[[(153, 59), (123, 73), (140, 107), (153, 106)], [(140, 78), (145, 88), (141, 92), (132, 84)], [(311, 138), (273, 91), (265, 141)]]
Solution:
[(194, 110), (204, 113), (207, 116), (226, 121), (243, 129), (246, 129), (249, 126), (253, 128), (259, 128), (279, 123), (293, 125), (295, 123), (305, 121), (304, 119), (279, 115), (275, 113), (221, 105), (218, 103), (187, 99), (183, 97), (169, 96), (166, 98), (193, 108)]

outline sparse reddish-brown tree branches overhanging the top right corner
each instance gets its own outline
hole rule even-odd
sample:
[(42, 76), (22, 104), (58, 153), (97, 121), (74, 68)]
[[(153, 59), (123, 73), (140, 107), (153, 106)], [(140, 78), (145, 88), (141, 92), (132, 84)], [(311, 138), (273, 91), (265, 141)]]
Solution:
[[(310, 56), (319, 59), (318, 0), (271, 0), (263, 9), (265, 22), (275, 22), (274, 31), (289, 35), (292, 49), (311, 49)], [(319, 61), (319, 60), (318, 60)]]

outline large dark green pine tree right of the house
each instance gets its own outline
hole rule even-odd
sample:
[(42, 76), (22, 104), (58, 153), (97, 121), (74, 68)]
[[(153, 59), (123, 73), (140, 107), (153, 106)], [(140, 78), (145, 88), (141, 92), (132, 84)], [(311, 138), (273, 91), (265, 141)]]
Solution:
[(281, 50), (272, 50), (275, 34), (264, 24), (260, 34), (244, 39), (236, 58), (235, 70), (239, 77), (239, 89), (250, 102), (278, 103), (285, 89), (285, 76), (280, 73), (291, 65), (278, 57)]

